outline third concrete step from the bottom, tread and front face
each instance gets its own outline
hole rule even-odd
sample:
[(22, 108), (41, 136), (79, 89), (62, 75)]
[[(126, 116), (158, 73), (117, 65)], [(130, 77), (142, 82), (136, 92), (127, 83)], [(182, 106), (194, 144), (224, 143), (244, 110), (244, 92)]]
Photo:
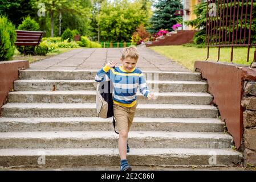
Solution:
[[(0, 132), (113, 131), (112, 117), (0, 118)], [(134, 118), (131, 131), (222, 132), (224, 122), (214, 118)]]

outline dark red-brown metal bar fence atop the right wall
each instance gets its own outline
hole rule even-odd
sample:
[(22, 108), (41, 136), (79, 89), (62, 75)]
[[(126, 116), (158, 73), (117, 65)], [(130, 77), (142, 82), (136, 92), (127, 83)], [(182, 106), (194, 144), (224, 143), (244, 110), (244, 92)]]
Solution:
[[(209, 58), (210, 47), (218, 47), (217, 61), (220, 60), (221, 47), (231, 47), (231, 62), (234, 47), (247, 47), (247, 62), (249, 61), (250, 48), (256, 46), (251, 41), (252, 38), (256, 39), (256, 32), (251, 31), (253, 11), (256, 12), (256, 5), (253, 7), (254, 1), (207, 0), (205, 43), (208, 51), (206, 60)], [(254, 61), (256, 61), (256, 49)]]

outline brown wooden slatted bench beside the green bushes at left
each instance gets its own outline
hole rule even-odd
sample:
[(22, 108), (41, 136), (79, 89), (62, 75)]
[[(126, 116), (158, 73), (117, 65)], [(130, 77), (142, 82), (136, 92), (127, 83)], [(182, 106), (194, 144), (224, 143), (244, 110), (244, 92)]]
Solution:
[[(25, 51), (24, 55), (28, 52), (32, 52), (35, 55), (35, 46), (38, 46), (41, 42), (44, 31), (24, 31), (24, 30), (16, 30), (17, 39), (15, 42), (15, 46), (34, 46), (32, 51)], [(34, 51), (33, 51), (34, 50)]]

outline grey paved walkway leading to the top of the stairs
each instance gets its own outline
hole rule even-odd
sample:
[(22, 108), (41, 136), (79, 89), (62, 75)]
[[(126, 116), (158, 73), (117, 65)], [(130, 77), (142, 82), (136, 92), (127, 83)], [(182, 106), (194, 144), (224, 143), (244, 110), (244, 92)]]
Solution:
[[(117, 66), (121, 65), (121, 51), (122, 48), (78, 48), (32, 63), (29, 69), (99, 70), (109, 60), (116, 61)], [(138, 51), (137, 67), (142, 71), (191, 72), (149, 48), (138, 48)]]

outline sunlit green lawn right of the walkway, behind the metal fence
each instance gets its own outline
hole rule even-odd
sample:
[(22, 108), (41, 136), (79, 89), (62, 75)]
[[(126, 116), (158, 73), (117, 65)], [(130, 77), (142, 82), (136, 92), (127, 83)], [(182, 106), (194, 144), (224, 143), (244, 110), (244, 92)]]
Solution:
[[(156, 46), (152, 50), (177, 61), (185, 68), (193, 71), (194, 61), (204, 61), (207, 56), (207, 48), (185, 47), (185, 46)], [(233, 63), (250, 65), (253, 61), (255, 48), (250, 49), (249, 62), (246, 62), (247, 48), (234, 48)], [(220, 61), (230, 63), (231, 48), (221, 48)], [(210, 48), (208, 61), (218, 59), (218, 48)]]

